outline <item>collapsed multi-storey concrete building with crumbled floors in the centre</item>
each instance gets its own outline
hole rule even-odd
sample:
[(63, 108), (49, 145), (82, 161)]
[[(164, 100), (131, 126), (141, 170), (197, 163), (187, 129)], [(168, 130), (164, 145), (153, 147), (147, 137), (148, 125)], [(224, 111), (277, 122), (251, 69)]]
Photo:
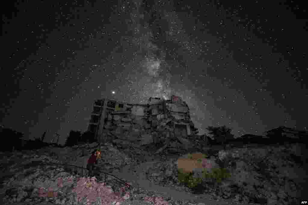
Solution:
[(110, 99), (96, 100), (88, 126), (99, 142), (113, 141), (130, 146), (164, 142), (171, 146), (194, 146), (189, 139), (198, 133), (186, 102), (150, 97), (147, 104), (130, 104)]

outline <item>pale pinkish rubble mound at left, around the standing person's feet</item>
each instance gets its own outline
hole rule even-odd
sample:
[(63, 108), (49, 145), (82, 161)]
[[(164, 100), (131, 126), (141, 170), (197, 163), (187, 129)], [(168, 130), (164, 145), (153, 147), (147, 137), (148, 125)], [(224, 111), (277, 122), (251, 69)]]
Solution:
[[(93, 148), (94, 145), (95, 144), (87, 144), (82, 146), (84, 148)], [(120, 158), (120, 152), (112, 148), (111, 144), (104, 144), (104, 146), (109, 147), (109, 149), (105, 149), (105, 152), (111, 150), (110, 153), (108, 153), (109, 155), (119, 154), (119, 156), (114, 156), (114, 158)], [(75, 148), (77, 147), (74, 147), (74, 149)], [(57, 148), (54, 148), (53, 152), (55, 152), (55, 149)], [(66, 152), (65, 149), (67, 148), (62, 149), (62, 152)], [(80, 148), (80, 150), (82, 150), (82, 148)], [(2, 204), (39, 204), (43, 202), (77, 204), (79, 200), (81, 204), (105, 205), (107, 204), (107, 199), (109, 200), (108, 204), (129, 200), (130, 195), (134, 191), (133, 189), (126, 189), (128, 187), (125, 186), (122, 188), (119, 186), (115, 189), (105, 183), (96, 183), (95, 177), (91, 179), (84, 178), (83, 176), (87, 173), (85, 172), (83, 173), (84, 175), (82, 175), (80, 169), (78, 173), (72, 174), (70, 169), (61, 166), (63, 165), (61, 161), (53, 159), (56, 157), (55, 155), (48, 155), (52, 149), (47, 148), (45, 152), (47, 155), (39, 156), (38, 154), (41, 151), (42, 150), (0, 153), (0, 156), (2, 156), (2, 171), (7, 173), (1, 175)], [(59, 152), (58, 155), (62, 152)], [(109, 159), (108, 154), (106, 154), (107, 160)], [(89, 156), (86, 157), (88, 158)], [(124, 162), (125, 160), (129, 160), (129, 158), (124, 158)], [(113, 165), (118, 166), (122, 163), (123, 161), (116, 162), (115, 160)], [(88, 189), (88, 191), (86, 191), (86, 189)], [(96, 195), (93, 195), (96, 193), (94, 193), (95, 190), (97, 191), (97, 195), (103, 196), (100, 200), (89, 201), (89, 199), (97, 199)], [(109, 193), (108, 197), (105, 192)]]

